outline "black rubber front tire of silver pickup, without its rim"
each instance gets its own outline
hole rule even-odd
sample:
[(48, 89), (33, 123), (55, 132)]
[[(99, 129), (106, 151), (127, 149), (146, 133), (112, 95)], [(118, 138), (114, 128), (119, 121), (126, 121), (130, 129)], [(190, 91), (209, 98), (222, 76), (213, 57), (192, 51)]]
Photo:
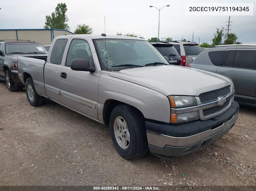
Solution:
[[(118, 116), (125, 120), (130, 133), (130, 142), (127, 149), (121, 148), (115, 137), (114, 122)], [(109, 123), (111, 138), (118, 154), (127, 160), (145, 156), (148, 151), (145, 118), (138, 110), (131, 106), (118, 105), (112, 110)]]

